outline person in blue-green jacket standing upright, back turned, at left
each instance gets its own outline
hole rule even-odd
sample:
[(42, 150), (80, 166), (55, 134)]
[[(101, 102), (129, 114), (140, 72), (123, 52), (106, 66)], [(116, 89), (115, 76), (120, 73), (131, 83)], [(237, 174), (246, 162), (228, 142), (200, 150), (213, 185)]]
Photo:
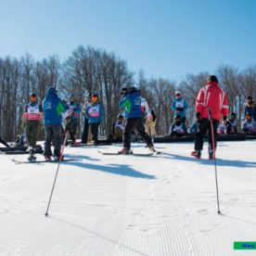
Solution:
[(45, 99), (43, 100), (44, 122), (45, 122), (45, 160), (51, 160), (52, 150), (51, 144), (54, 145), (54, 158), (60, 160), (61, 148), (61, 122), (65, 108), (61, 103), (61, 99), (57, 95), (55, 87), (47, 90)]

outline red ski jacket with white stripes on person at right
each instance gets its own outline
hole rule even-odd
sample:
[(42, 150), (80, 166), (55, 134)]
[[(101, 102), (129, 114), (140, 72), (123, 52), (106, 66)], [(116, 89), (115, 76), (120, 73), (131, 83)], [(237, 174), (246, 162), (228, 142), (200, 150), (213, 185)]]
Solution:
[(212, 119), (220, 120), (221, 115), (228, 115), (228, 101), (224, 90), (218, 83), (210, 82), (198, 92), (196, 110), (201, 118), (209, 118), (208, 109), (211, 109)]

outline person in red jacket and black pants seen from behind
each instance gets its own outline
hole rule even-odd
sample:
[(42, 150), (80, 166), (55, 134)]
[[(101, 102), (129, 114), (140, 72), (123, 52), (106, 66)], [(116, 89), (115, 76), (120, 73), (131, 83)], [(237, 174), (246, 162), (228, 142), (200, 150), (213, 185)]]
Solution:
[(226, 120), (228, 115), (228, 101), (224, 90), (220, 87), (218, 79), (215, 75), (210, 75), (207, 84), (198, 92), (196, 100), (196, 118), (198, 122), (198, 132), (196, 133), (195, 151), (192, 156), (200, 159), (201, 150), (203, 148), (204, 135), (209, 132), (209, 159), (215, 158), (213, 149), (217, 147), (216, 139), (214, 139), (214, 147), (212, 144), (211, 122), (209, 117), (209, 109), (211, 110), (211, 119), (213, 126), (213, 134), (216, 137), (217, 128), (221, 118)]

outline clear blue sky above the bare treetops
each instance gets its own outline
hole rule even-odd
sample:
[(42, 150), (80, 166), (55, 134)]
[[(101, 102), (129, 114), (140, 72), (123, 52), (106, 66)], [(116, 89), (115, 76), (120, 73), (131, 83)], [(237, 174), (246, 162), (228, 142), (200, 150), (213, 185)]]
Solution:
[(0, 57), (114, 52), (147, 78), (180, 81), (256, 64), (254, 0), (0, 0)]

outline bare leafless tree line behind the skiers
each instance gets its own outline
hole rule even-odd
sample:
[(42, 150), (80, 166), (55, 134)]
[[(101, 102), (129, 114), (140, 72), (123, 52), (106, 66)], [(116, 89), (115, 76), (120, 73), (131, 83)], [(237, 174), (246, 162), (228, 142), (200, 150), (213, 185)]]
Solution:
[[(237, 113), (240, 124), (246, 97), (256, 98), (256, 66), (240, 71), (223, 64), (214, 74), (227, 93), (230, 111)], [(105, 111), (105, 120), (100, 125), (102, 135), (111, 133), (112, 123), (120, 111), (118, 105), (123, 87), (136, 86), (147, 98), (149, 107), (157, 115), (158, 134), (169, 134), (173, 122), (170, 106), (176, 90), (183, 93), (189, 105), (187, 125), (194, 121), (195, 99), (198, 90), (206, 84), (208, 72), (186, 74), (180, 83), (171, 79), (147, 79), (143, 70), (138, 71), (137, 79), (135, 75), (125, 60), (90, 45), (78, 46), (63, 62), (56, 55), (41, 61), (35, 61), (29, 54), (19, 59), (0, 58), (0, 134), (7, 141), (13, 141), (17, 134), (23, 133), (22, 114), (30, 95), (35, 93), (42, 101), (52, 86), (57, 87), (62, 99), (69, 100), (73, 94), (81, 104), (86, 96), (98, 94)], [(83, 116), (78, 134), (82, 125)]]

